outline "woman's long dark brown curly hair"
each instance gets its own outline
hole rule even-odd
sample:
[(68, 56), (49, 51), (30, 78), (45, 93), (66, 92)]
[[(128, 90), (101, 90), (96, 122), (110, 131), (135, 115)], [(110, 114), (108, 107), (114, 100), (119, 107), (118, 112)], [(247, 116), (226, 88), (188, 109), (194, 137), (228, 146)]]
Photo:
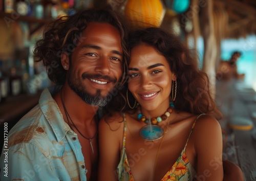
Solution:
[[(221, 118), (221, 113), (216, 108), (215, 101), (210, 94), (208, 77), (198, 69), (198, 56), (189, 50), (178, 36), (162, 28), (132, 31), (129, 36), (130, 52), (141, 43), (154, 47), (159, 54), (163, 55), (168, 61), (170, 71), (177, 76), (177, 95), (174, 101), (176, 110), (196, 115), (205, 113), (215, 116), (217, 119)], [(130, 109), (125, 99), (126, 89), (127, 82), (123, 86), (122, 94), (118, 95), (120, 98), (118, 100), (113, 99), (115, 102), (110, 103), (112, 104), (112, 111)], [(130, 95), (129, 101), (133, 105), (135, 99), (131, 97)], [(172, 92), (170, 97), (172, 97)]]

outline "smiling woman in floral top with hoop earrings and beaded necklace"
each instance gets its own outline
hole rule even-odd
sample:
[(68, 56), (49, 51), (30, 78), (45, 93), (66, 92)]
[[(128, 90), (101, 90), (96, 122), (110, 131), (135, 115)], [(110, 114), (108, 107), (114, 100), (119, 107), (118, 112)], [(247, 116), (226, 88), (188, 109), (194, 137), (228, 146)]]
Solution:
[(218, 110), (197, 59), (160, 28), (130, 40), (127, 106), (115, 99), (99, 124), (99, 180), (223, 180)]

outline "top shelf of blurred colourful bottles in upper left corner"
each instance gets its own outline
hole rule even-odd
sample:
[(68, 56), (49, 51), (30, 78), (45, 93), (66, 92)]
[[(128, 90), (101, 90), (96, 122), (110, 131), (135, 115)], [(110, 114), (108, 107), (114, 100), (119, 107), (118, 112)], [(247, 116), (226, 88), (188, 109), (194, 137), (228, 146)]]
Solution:
[[(52, 19), (72, 15), (76, 9), (92, 7), (93, 0), (2, 0), (0, 17), (7, 20), (47, 23)], [(1, 1), (0, 1), (1, 3)]]

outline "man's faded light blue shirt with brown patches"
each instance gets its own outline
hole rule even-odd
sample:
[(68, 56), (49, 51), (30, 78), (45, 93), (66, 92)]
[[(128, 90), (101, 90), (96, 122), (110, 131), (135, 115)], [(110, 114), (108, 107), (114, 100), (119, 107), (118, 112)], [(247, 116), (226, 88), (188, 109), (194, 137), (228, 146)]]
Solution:
[(87, 180), (77, 134), (63, 120), (51, 93), (46, 88), (39, 104), (8, 133), (9, 150), (3, 148), (0, 157), (0, 180)]

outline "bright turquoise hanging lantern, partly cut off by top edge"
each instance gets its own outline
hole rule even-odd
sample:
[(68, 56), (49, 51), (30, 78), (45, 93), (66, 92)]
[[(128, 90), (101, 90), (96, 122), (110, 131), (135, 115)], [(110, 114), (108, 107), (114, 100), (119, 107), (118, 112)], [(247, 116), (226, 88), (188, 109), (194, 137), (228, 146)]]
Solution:
[(176, 13), (184, 13), (189, 7), (189, 0), (166, 0), (166, 6)]

